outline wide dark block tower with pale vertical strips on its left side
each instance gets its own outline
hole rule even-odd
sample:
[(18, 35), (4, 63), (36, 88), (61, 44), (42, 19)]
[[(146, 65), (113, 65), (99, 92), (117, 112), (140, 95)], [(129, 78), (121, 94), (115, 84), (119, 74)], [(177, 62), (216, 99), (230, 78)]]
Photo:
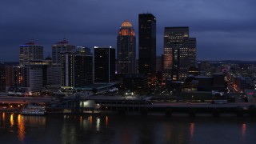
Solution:
[(62, 86), (82, 87), (93, 83), (92, 54), (61, 53)]

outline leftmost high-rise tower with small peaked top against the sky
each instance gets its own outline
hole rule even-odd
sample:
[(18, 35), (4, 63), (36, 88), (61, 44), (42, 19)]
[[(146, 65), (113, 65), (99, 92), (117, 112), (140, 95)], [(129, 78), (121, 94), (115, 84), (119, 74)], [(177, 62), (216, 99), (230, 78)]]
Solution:
[(43, 46), (37, 45), (34, 40), (19, 46), (19, 64), (25, 66), (32, 60), (42, 60)]

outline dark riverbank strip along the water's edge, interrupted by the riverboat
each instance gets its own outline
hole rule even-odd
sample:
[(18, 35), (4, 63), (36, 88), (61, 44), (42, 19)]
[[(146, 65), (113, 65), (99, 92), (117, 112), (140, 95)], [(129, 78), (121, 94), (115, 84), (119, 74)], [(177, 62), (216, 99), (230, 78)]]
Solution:
[[(0, 113), (21, 113), (17, 108), (0, 108)], [(140, 110), (130, 110), (127, 107), (118, 110), (81, 110), (81, 109), (52, 109), (46, 108), (46, 114), (76, 114), (76, 115), (166, 115), (168, 117), (250, 117), (256, 118), (256, 107), (172, 107), (165, 109), (150, 109), (142, 107)]]

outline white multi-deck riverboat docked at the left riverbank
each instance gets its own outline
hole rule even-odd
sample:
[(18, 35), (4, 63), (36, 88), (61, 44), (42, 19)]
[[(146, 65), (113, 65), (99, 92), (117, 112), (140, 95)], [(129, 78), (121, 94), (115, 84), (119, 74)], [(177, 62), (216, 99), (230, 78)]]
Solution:
[(44, 115), (46, 114), (45, 106), (34, 106), (28, 105), (26, 108), (23, 108), (21, 114), (26, 115)]

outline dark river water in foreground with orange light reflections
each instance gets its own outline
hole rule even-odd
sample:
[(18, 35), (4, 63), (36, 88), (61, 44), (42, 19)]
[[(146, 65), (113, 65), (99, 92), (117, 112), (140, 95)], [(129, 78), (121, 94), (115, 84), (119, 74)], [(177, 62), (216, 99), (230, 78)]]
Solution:
[(253, 118), (0, 113), (0, 143), (256, 143)]

